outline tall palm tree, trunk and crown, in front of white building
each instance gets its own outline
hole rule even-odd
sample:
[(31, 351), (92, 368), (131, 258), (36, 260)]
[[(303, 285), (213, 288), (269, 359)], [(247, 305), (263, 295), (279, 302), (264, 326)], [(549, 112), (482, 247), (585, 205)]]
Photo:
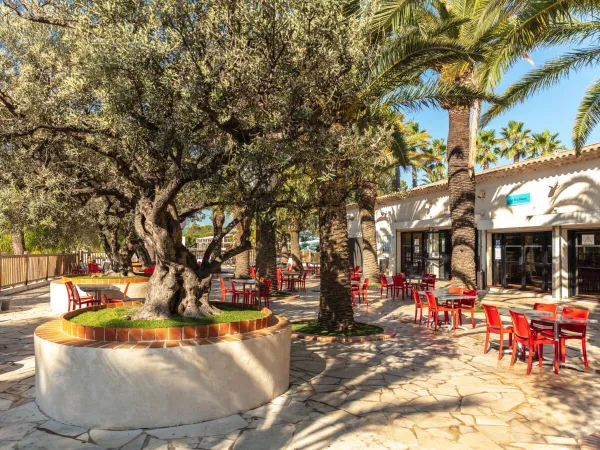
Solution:
[[(470, 56), (461, 62), (431, 61), (439, 79), (457, 88), (473, 90), (471, 98), (442, 102), (448, 111), (448, 187), (452, 218), (452, 278), (458, 285), (475, 287), (475, 177), (476, 138), (480, 99), (500, 81), (514, 63), (507, 52), (493, 72), (484, 70), (494, 45), (510, 21), (528, 2), (514, 0), (382, 0), (373, 26), (390, 39), (401, 39), (407, 29), (439, 36), (438, 44), (462, 46)], [(496, 56), (496, 58), (499, 58)], [(485, 76), (483, 76), (485, 74)]]

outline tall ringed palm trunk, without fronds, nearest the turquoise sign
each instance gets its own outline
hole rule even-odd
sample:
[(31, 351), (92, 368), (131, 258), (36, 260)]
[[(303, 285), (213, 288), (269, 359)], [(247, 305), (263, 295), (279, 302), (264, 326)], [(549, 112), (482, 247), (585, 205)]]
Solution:
[(448, 187), (452, 217), (452, 281), (475, 288), (475, 177), (470, 170), (470, 108), (448, 109)]

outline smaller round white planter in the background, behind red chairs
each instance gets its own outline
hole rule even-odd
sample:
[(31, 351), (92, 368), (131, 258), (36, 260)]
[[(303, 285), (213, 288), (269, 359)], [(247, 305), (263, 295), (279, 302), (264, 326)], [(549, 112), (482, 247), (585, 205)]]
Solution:
[[(125, 286), (129, 284), (127, 290), (127, 297), (134, 298), (146, 298), (148, 294), (148, 280), (147, 277), (97, 277), (97, 278), (86, 278), (77, 279), (77, 276), (68, 277), (64, 276), (60, 280), (54, 280), (50, 282), (50, 307), (52, 311), (57, 314), (66, 313), (69, 310), (69, 297), (67, 296), (67, 289), (65, 288), (65, 282), (72, 281), (76, 284), (110, 284), (115, 287), (115, 294), (120, 291), (121, 294), (125, 292)], [(121, 294), (112, 295), (112, 297), (120, 297)], [(79, 295), (88, 295), (85, 292), (79, 290)]]

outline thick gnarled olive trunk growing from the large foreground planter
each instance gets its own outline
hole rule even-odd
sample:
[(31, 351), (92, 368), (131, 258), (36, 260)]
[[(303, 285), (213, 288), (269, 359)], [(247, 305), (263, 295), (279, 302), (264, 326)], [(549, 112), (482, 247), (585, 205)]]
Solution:
[(220, 311), (208, 302), (211, 265), (198, 265), (182, 243), (182, 229), (173, 203), (142, 199), (136, 211), (136, 231), (154, 249), (156, 268), (148, 282), (148, 297), (136, 319), (205, 317)]

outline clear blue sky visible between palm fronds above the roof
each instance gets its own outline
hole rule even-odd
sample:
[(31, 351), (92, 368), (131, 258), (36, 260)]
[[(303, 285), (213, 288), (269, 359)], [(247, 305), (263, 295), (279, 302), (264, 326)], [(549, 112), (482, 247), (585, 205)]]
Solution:
[[(569, 51), (569, 47), (542, 49), (530, 56), (538, 67), (556, 56)], [(513, 82), (517, 81), (534, 67), (526, 61), (515, 65), (502, 79), (498, 86), (498, 93), (503, 92)], [(502, 116), (493, 120), (487, 128), (496, 129), (499, 135), (500, 128), (506, 126), (509, 120), (525, 122), (525, 127), (534, 133), (544, 131), (546, 128), (552, 133), (560, 133), (559, 139), (567, 148), (571, 148), (571, 130), (577, 107), (586, 88), (598, 77), (597, 67), (573, 72), (570, 77), (563, 79), (559, 84), (532, 96), (525, 103), (515, 106)], [(448, 136), (448, 115), (443, 110), (427, 109), (414, 114), (406, 114), (406, 118), (419, 122), (419, 126), (426, 129), (434, 138)], [(596, 127), (588, 140), (588, 144), (600, 142), (600, 127)], [(506, 164), (502, 160), (500, 164)], [(419, 182), (422, 175), (419, 175)], [(410, 173), (404, 172), (402, 178), (410, 185)]]

